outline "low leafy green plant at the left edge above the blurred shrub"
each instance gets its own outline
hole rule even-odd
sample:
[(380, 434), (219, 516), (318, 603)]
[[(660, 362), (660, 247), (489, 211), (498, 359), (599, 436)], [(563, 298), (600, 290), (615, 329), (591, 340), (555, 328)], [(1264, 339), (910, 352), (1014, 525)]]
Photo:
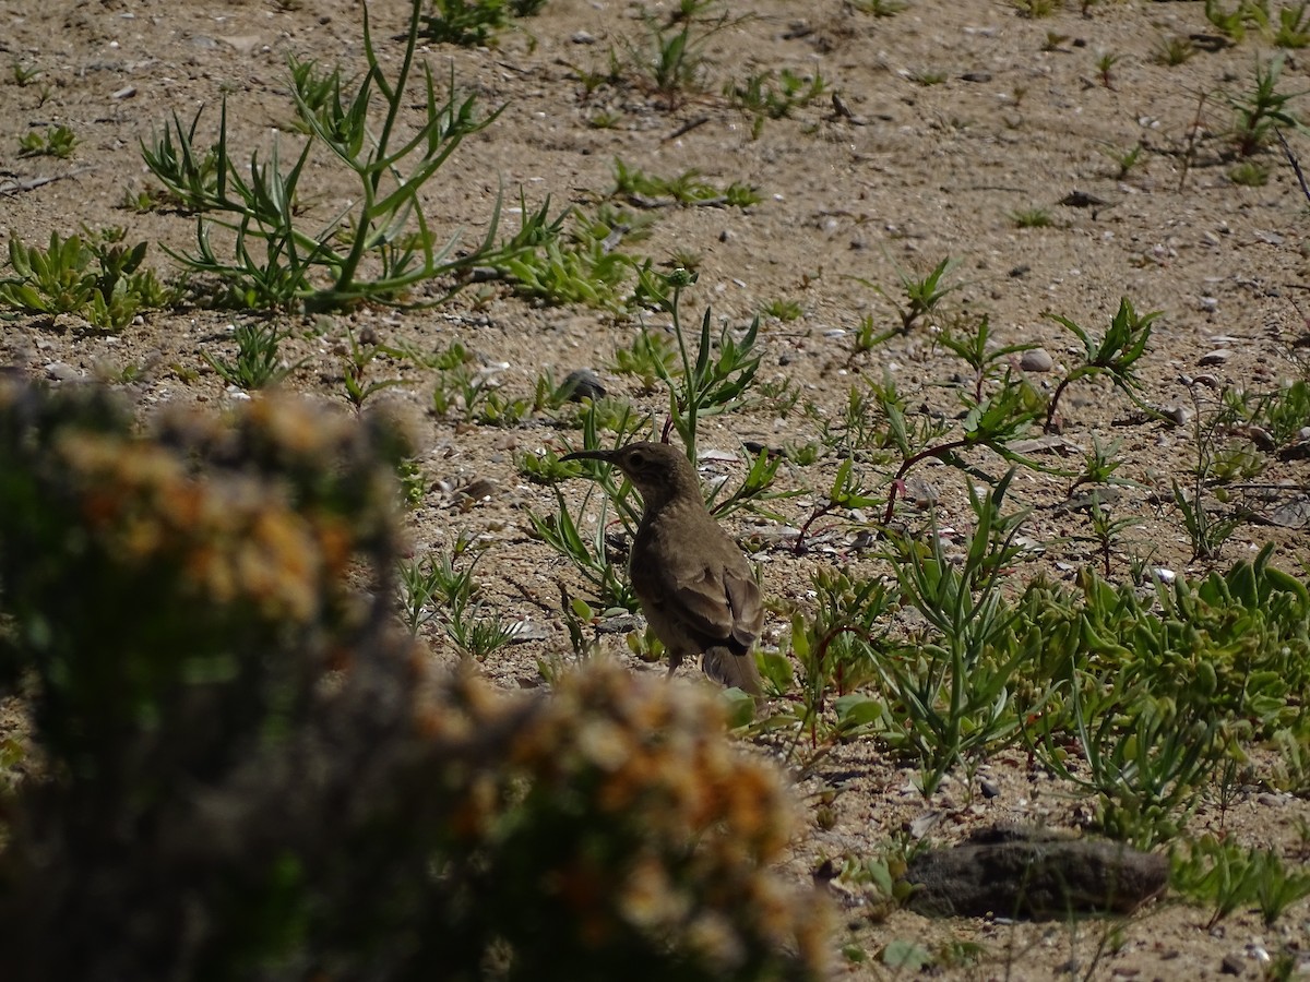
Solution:
[(141, 267), (145, 242), (126, 246), (113, 229), (84, 232), (68, 238), (51, 232), (47, 249), (10, 237), (16, 275), (0, 280), (0, 304), (37, 314), (72, 313), (100, 330), (121, 331), (139, 312), (176, 300), (176, 291)]

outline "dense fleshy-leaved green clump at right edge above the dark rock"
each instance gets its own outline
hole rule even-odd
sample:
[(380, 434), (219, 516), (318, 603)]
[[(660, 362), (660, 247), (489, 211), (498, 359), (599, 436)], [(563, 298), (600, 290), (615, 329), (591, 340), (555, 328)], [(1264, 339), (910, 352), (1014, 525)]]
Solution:
[(1040, 593), (1040, 673), (1058, 690), (1024, 738), (1096, 795), (1098, 824), (1116, 838), (1171, 838), (1235, 740), (1268, 738), (1298, 719), (1310, 693), (1310, 591), (1271, 555), (1199, 583), (1157, 581), (1145, 600), (1090, 567), (1078, 597)]

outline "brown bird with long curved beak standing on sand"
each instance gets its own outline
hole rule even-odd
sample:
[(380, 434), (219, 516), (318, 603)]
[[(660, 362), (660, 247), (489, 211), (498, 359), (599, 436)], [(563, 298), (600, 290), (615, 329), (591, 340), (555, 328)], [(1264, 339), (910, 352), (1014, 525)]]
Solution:
[(703, 655), (710, 678), (751, 695), (764, 693), (751, 646), (760, 636), (760, 587), (738, 545), (705, 508), (686, 456), (668, 444), (580, 450), (566, 461), (613, 464), (642, 495), (642, 521), (627, 559), (633, 589), (655, 636), (668, 648), (669, 674)]

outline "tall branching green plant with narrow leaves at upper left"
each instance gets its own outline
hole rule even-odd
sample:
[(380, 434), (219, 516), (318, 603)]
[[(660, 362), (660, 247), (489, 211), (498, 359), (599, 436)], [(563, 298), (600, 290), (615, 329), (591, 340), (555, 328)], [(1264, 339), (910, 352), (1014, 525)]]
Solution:
[[(462, 140), (489, 126), (500, 110), (478, 118), (474, 98), (456, 96), (453, 69), (441, 101), (424, 64), (426, 122), (400, 141), (397, 123), (410, 100), (407, 84), (415, 65), (421, 9), (422, 0), (413, 0), (394, 80), (386, 77), (373, 48), (367, 10), (363, 30), (368, 69), (354, 92), (345, 90), (339, 71), (325, 81), (321, 73), (297, 72), (301, 63), (291, 63), (292, 97), (309, 136), (290, 166), (283, 166), (275, 141), (269, 158), (253, 153), (249, 172), (242, 174), (228, 145), (225, 103), (217, 143), (208, 151), (194, 145), (199, 113), (187, 128), (174, 117), (172, 132), (165, 130), (153, 147), (143, 143), (143, 157), (155, 177), (202, 212), (196, 251), (176, 258), (190, 270), (217, 278), (229, 302), (322, 310), (364, 300), (402, 301), (423, 282), (457, 278), (473, 266), (506, 258), (507, 250), (493, 245), (499, 200), (481, 244), (457, 253), (457, 238), (438, 242), (421, 198), (423, 186)], [(380, 124), (369, 119), (377, 102), (384, 110)], [(356, 194), (354, 203), (310, 230), (297, 212), (297, 200), (316, 149), (330, 152), (345, 168)], [(204, 175), (211, 155), (212, 186)], [(228, 233), (229, 259), (219, 257), (214, 228)]]

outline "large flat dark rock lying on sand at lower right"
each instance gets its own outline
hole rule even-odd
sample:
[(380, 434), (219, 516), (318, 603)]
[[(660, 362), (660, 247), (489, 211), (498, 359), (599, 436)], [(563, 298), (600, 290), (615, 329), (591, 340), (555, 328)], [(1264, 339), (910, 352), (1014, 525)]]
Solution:
[(909, 907), (927, 917), (1129, 914), (1163, 893), (1169, 860), (1070, 833), (996, 826), (916, 856)]

